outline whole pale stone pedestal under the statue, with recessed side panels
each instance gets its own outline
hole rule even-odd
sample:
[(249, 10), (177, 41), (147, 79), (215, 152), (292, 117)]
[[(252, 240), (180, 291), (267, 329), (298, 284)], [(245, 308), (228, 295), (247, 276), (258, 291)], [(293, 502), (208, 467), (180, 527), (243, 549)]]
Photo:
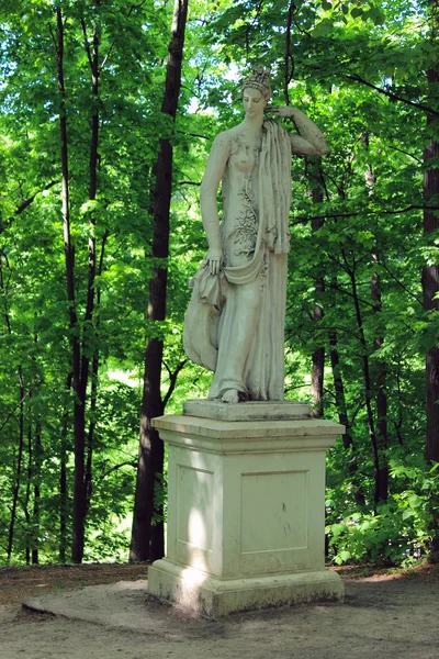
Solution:
[[(224, 415), (227, 413), (227, 417)], [(154, 420), (169, 444), (167, 556), (149, 592), (217, 617), (342, 600), (325, 568), (325, 450), (341, 425), (301, 403), (189, 401)]]

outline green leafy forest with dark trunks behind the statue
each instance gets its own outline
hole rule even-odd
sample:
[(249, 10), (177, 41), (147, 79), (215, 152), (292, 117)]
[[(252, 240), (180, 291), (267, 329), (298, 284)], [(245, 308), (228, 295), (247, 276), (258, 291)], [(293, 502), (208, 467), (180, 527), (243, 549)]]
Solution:
[(162, 555), (150, 418), (209, 389), (199, 186), (259, 63), (330, 146), (292, 161), (285, 336), (285, 396), (347, 427), (328, 556), (439, 559), (438, 27), (423, 0), (2, 0), (1, 563)]

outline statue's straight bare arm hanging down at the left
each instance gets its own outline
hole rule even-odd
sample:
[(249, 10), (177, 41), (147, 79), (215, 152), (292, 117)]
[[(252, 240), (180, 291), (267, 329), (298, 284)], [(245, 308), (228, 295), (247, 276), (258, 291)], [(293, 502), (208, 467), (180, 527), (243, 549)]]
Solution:
[(226, 134), (219, 133), (213, 142), (200, 190), (201, 217), (207, 236), (207, 261), (211, 275), (218, 273), (223, 259), (216, 193), (229, 156), (230, 141)]

